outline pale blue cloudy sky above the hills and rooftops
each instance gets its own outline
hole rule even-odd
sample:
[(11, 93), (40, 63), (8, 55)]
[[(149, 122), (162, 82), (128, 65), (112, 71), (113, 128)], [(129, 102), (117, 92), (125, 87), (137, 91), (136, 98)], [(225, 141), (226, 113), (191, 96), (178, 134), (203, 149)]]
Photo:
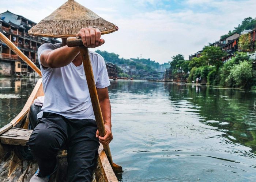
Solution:
[[(256, 0), (76, 0), (117, 32), (102, 35), (105, 50), (120, 58), (159, 63), (183, 54), (186, 59), (233, 30), (246, 17), (256, 17)], [(65, 0), (0, 0), (0, 13), (9, 10), (38, 23)]]

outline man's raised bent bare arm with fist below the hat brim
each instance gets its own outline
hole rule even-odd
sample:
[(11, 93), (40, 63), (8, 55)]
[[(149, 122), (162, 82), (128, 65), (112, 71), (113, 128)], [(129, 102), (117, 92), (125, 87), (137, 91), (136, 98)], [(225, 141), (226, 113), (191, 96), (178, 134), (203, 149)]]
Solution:
[[(83, 40), (83, 44), (89, 48), (99, 47), (105, 43), (101, 39), (101, 32), (95, 28), (83, 28), (78, 35)], [(60, 68), (67, 66), (79, 54), (79, 47), (68, 47), (63, 43), (63, 47), (56, 50), (45, 51), (40, 56), (42, 66), (46, 68)]]

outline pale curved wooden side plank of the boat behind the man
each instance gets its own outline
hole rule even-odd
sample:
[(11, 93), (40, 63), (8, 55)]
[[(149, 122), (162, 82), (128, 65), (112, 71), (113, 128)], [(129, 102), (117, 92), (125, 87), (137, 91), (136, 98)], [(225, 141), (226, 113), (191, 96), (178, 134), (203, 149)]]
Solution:
[(18, 122), (27, 114), (27, 112), (29, 112), (29, 108), (31, 104), (34, 102), (34, 100), (38, 96), (43, 96), (43, 95), (44, 95), (44, 91), (42, 88), (42, 79), (39, 79), (37, 84), (35, 85), (34, 90), (30, 94), (29, 99), (27, 99), (25, 106), (20, 111), (20, 113), (11, 121), (11, 124), (13, 127), (16, 126), (16, 124), (18, 124)]

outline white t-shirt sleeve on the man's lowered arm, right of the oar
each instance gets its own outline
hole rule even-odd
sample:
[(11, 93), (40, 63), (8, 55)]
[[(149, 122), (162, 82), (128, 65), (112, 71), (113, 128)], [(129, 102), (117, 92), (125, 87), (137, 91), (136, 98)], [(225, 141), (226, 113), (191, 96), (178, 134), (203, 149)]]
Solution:
[[(100, 60), (100, 59), (102, 59), (102, 60)], [(105, 61), (101, 56), (99, 56), (99, 61), (101, 62), (101, 67), (99, 69), (96, 87), (97, 88), (106, 88), (106, 87), (110, 86), (108, 71), (106, 68)]]

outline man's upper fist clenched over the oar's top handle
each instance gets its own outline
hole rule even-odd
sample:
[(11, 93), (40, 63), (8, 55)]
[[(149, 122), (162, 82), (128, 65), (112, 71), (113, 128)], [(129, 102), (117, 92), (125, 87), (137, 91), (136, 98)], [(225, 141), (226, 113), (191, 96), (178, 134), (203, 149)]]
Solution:
[(99, 47), (105, 43), (104, 39), (101, 39), (101, 31), (98, 28), (82, 28), (77, 36), (83, 40), (83, 45), (88, 48)]

